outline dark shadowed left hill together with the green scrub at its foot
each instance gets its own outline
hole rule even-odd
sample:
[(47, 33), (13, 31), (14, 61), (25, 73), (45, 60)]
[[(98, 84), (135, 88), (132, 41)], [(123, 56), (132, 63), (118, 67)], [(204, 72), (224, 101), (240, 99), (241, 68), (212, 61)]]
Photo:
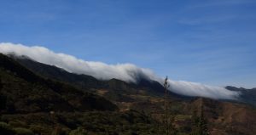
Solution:
[(0, 54), (0, 134), (161, 132), (157, 121), (94, 93), (33, 73)]

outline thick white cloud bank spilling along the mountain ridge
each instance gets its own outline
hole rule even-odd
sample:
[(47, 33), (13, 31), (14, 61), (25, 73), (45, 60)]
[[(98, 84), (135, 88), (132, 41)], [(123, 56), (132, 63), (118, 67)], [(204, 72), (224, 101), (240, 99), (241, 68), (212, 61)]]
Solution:
[[(132, 64), (107, 65), (102, 62), (85, 61), (65, 53), (55, 53), (48, 48), (9, 42), (0, 43), (0, 53), (14, 53), (16, 56), (27, 56), (40, 63), (55, 65), (69, 72), (94, 76), (101, 80), (116, 78), (125, 82), (137, 82), (140, 78), (163, 83), (163, 78), (156, 76), (152, 70), (137, 67)], [(187, 96), (207, 98), (236, 99), (239, 93), (224, 87), (212, 87), (195, 82), (169, 80), (170, 91)]]

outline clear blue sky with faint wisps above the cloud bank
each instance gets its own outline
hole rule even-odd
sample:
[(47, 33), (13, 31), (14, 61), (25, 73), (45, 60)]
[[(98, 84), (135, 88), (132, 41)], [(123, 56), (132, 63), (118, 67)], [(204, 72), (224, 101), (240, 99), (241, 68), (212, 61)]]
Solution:
[(255, 0), (0, 0), (0, 42), (256, 87)]

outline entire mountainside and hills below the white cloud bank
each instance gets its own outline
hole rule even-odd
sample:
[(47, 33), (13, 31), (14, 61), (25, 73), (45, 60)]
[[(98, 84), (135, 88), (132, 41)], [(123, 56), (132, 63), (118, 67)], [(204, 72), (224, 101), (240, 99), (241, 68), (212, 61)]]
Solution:
[[(159, 82), (101, 81), (26, 57), (12, 58), (0, 54), (0, 134), (20, 128), (45, 135), (165, 134), (164, 87)], [(252, 106), (169, 94), (172, 133), (195, 133), (202, 113), (212, 135), (256, 133)]]

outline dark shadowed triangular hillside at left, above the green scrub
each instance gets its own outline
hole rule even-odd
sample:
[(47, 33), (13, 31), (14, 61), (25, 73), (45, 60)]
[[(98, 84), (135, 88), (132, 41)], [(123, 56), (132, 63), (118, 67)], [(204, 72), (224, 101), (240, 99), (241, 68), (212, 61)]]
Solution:
[(0, 113), (117, 110), (93, 93), (44, 79), (0, 53)]

